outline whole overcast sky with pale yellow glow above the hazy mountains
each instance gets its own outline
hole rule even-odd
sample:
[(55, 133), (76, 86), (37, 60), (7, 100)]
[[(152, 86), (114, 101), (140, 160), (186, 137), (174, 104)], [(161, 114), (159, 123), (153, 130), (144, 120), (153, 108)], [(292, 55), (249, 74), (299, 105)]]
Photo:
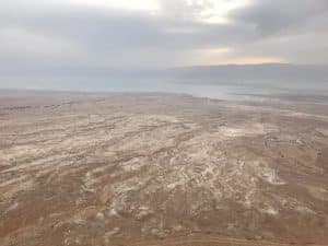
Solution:
[(94, 68), (324, 65), (327, 26), (328, 0), (0, 0), (0, 86)]

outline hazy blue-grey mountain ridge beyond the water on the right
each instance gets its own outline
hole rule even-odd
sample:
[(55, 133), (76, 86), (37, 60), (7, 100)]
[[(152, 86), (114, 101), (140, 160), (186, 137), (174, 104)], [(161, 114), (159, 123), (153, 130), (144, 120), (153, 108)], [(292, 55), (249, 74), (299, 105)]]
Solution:
[[(327, 82), (327, 65), (222, 65), (222, 66), (195, 66), (166, 70), (168, 77), (188, 80), (208, 79), (214, 81), (260, 81), (260, 82)], [(214, 80), (214, 81), (213, 81)]]

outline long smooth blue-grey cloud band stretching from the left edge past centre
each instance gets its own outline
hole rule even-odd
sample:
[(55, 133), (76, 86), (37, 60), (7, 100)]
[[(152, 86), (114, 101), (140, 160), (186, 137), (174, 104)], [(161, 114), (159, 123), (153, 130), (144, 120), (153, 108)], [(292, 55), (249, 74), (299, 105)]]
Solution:
[(204, 24), (167, 20), (148, 14), (101, 10), (43, 10), (5, 16), (2, 26), (19, 26), (52, 38), (75, 42), (92, 51), (122, 48), (202, 48), (243, 42), (247, 30), (239, 24)]

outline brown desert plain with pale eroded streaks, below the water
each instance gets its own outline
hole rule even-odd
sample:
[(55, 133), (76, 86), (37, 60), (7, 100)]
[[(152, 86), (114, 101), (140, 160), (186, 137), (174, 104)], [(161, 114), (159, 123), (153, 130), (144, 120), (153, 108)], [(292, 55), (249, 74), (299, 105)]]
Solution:
[(328, 101), (2, 93), (0, 245), (328, 245)]

